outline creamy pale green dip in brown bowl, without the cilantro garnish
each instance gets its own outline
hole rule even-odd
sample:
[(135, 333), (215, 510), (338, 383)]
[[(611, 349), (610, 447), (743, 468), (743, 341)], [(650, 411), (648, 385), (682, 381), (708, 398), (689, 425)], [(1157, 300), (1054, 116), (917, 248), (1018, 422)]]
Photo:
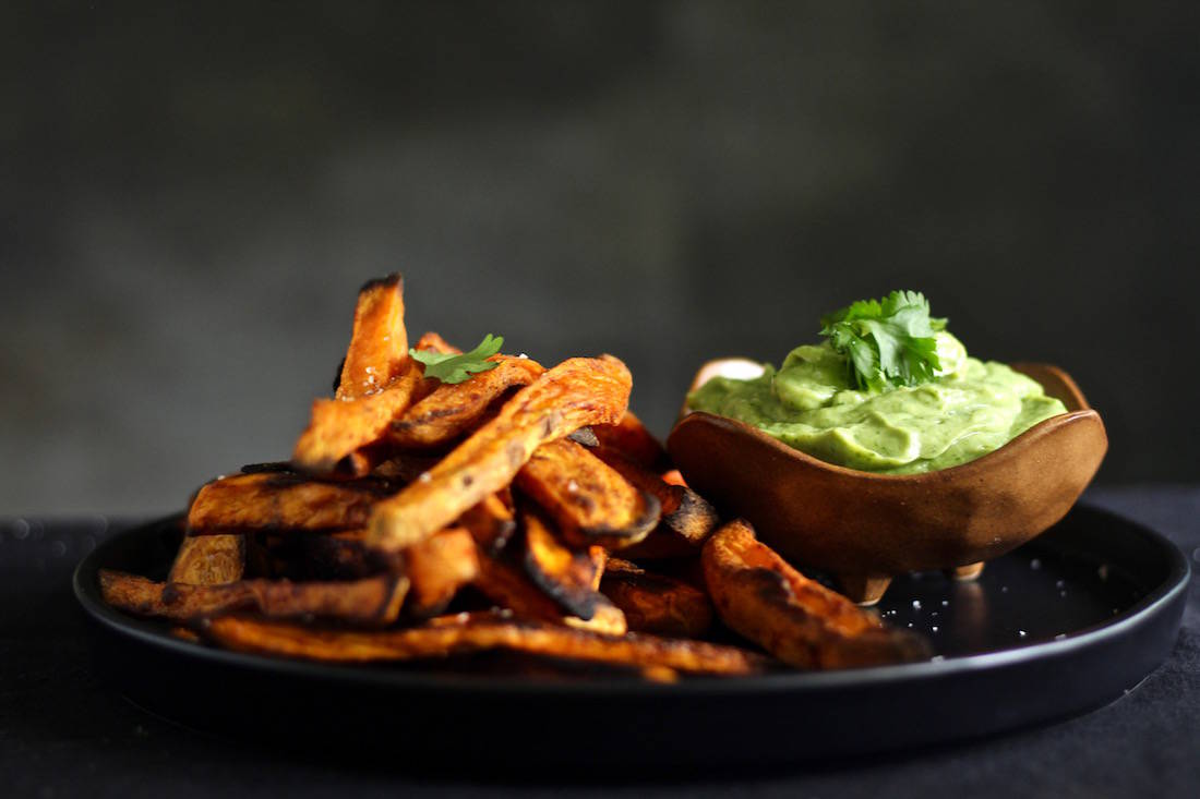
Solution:
[(776, 371), (714, 378), (688, 407), (754, 425), (814, 457), (864, 471), (917, 474), (973, 461), (1066, 413), (1040, 384), (1004, 364), (967, 356), (938, 332), (936, 379), (878, 392), (851, 386), (828, 343), (797, 347)]

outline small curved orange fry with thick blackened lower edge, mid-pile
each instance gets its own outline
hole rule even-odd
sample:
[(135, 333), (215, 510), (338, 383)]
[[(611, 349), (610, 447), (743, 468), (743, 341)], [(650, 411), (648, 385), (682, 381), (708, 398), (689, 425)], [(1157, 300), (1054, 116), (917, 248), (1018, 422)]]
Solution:
[(593, 587), (604, 570), (601, 547), (575, 552), (563, 545), (541, 516), (521, 515), (524, 528), (526, 575), (569, 614), (590, 619), (604, 596)]

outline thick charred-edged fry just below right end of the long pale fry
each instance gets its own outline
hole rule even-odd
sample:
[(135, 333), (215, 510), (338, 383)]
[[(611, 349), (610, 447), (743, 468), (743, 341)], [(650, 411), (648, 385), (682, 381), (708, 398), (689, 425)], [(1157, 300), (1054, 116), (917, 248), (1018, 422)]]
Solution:
[(659, 521), (659, 501), (575, 441), (542, 444), (515, 485), (541, 506), (577, 547), (637, 543)]

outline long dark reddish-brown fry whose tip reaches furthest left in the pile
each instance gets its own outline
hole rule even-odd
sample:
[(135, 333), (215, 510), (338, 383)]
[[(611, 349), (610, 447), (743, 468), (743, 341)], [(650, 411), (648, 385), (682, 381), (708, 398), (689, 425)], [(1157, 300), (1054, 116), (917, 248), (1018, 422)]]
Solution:
[(187, 621), (233, 611), (256, 611), (272, 618), (319, 617), (385, 625), (396, 620), (408, 578), (380, 575), (349, 583), (293, 583), (242, 579), (223, 585), (156, 583), (102, 569), (104, 601), (137, 615)]

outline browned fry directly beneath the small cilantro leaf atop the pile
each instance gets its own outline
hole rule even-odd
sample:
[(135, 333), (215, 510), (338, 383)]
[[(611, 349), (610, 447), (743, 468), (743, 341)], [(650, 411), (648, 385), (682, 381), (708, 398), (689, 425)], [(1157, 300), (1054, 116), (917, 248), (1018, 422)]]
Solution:
[(487, 414), (510, 389), (529, 385), (546, 370), (527, 358), (493, 355), (499, 364), (463, 383), (442, 384), (391, 422), (388, 441), (400, 449), (445, 446)]

